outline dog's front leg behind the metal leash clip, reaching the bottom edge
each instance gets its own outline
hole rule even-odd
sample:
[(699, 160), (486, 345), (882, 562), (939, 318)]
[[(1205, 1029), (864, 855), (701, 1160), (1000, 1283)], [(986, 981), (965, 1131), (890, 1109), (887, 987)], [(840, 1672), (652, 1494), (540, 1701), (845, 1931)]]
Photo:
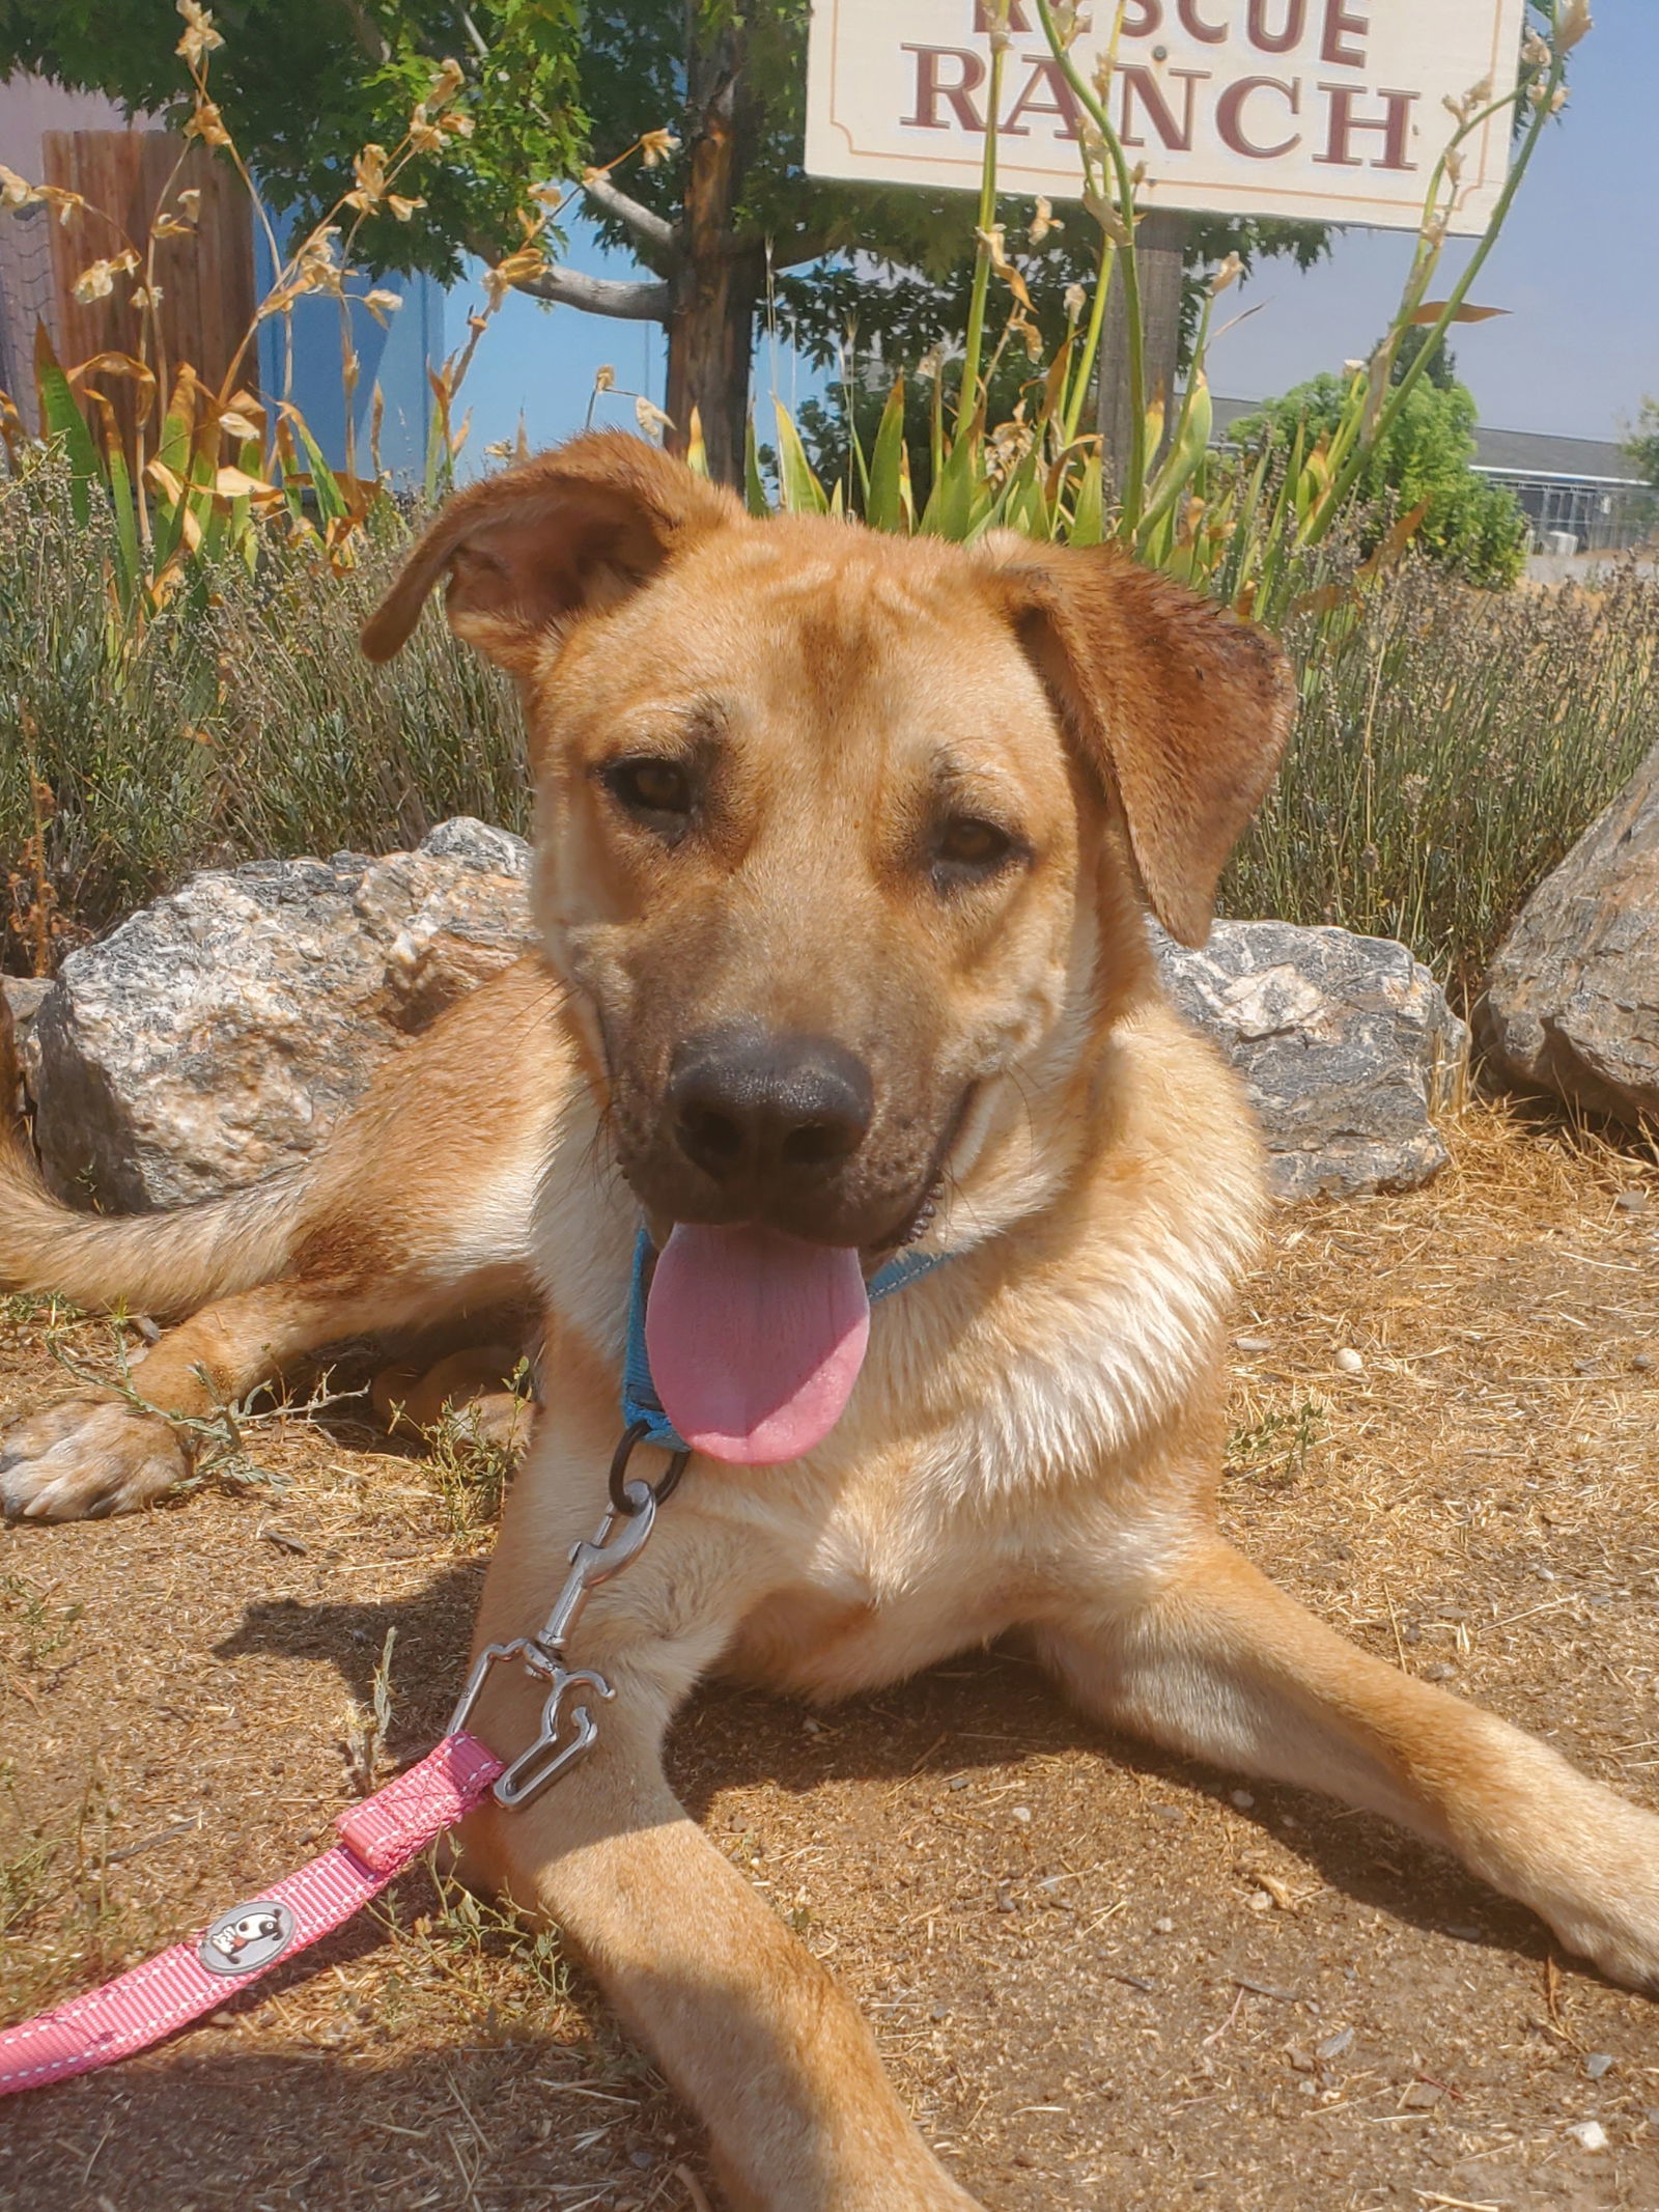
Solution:
[[(568, 1528), (560, 1513), (553, 1533), (538, 1511), (538, 1473), (509, 1502), (480, 1644), (546, 1613), (546, 1566), (533, 1562), (560, 1564)], [(703, 1517), (695, 1489), (697, 1475), (573, 1637), (571, 1663), (615, 1690), (593, 1701), (595, 1747), (533, 1803), (473, 1814), (460, 1871), (566, 1931), (708, 2126), (734, 2208), (962, 2212), (973, 2199), (922, 2143), (865, 2022), (664, 1776), (668, 1719), (754, 1595), (754, 1533)], [(498, 1666), (471, 1725), (513, 1756), (538, 1719), (540, 1690)]]

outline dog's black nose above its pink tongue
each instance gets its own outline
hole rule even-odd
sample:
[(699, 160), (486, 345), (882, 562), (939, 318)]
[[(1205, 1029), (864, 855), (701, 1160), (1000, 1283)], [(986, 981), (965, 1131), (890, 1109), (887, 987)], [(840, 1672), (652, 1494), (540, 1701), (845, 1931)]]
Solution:
[(834, 1037), (712, 1031), (681, 1044), (668, 1077), (686, 1159), (757, 1201), (849, 1159), (874, 1108), (869, 1068)]

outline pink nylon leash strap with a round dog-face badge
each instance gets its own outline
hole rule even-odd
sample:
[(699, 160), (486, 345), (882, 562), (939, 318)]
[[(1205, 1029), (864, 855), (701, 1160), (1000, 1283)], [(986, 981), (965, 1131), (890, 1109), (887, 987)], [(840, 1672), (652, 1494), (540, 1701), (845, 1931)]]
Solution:
[(292, 1958), (378, 1898), (403, 1869), (489, 1792), (504, 1761), (465, 1730), (442, 1739), (420, 1765), (343, 1812), (341, 1840), (299, 1874), (283, 1876), (248, 1905), (133, 1966), (86, 1997), (71, 1997), (40, 2020), (0, 2028), (0, 2097), (44, 2088), (108, 2066), (217, 2013), (239, 1989)]

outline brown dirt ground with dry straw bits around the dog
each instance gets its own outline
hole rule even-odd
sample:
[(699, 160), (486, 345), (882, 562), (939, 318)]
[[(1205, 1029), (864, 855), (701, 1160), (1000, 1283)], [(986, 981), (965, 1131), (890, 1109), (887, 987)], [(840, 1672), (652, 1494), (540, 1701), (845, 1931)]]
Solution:
[[(53, 1327), (108, 1349), (18, 1305), (0, 1402), (62, 1380)], [(1254, 1559), (1659, 1805), (1650, 1157), (1473, 1108), (1429, 1190), (1281, 1214), (1234, 1400)], [(349, 1413), (252, 1431), (283, 1489), (0, 1537), (2, 2017), (321, 1849), (389, 1630), (380, 1770), (440, 1728), (489, 1500)], [(1369, 1818), (1102, 1736), (1018, 1657), (818, 1719), (714, 1690), (672, 1761), (995, 2212), (1659, 2208), (1659, 2006)], [(4, 2212), (714, 2203), (555, 1942), (429, 1874), (0, 2121)]]

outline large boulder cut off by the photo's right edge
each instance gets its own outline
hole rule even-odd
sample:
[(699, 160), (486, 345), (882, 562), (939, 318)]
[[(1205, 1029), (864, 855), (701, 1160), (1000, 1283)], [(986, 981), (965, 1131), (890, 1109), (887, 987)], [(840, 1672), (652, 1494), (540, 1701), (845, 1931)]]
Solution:
[(1659, 748), (1522, 907), (1475, 1035), (1526, 1088), (1659, 1119)]

